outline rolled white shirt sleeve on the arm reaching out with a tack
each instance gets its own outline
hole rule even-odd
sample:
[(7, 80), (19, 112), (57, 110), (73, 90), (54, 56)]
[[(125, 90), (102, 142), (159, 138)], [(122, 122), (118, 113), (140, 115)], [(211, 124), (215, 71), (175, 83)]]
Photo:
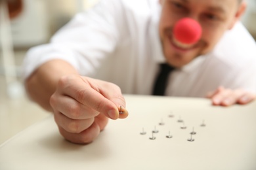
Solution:
[(23, 63), (24, 79), (51, 59), (64, 59), (81, 75), (92, 75), (102, 59), (116, 48), (122, 22), (121, 2), (102, 0), (93, 9), (77, 14), (49, 44), (31, 48)]

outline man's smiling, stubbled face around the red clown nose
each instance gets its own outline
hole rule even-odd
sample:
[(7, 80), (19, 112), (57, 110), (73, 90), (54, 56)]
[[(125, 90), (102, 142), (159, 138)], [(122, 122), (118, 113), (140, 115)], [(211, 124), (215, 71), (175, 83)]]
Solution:
[[(163, 54), (174, 67), (182, 67), (197, 56), (210, 52), (245, 8), (237, 0), (160, 0), (160, 3), (162, 12), (159, 31)], [(200, 23), (200, 41), (189, 45), (174, 41), (173, 27), (184, 17)]]

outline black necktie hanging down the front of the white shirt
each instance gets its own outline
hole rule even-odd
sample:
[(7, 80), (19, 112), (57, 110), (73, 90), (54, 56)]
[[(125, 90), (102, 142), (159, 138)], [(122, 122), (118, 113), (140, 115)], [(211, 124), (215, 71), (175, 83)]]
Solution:
[(164, 95), (165, 88), (167, 86), (168, 75), (171, 73), (171, 71), (173, 71), (173, 69), (174, 67), (171, 67), (167, 63), (160, 64), (160, 73), (156, 77), (153, 95)]

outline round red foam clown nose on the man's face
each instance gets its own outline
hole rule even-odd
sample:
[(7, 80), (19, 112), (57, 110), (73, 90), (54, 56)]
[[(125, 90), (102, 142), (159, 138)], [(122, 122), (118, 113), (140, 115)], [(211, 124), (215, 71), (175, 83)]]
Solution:
[(200, 39), (202, 27), (192, 18), (182, 18), (175, 24), (173, 34), (177, 41), (184, 44), (193, 44)]

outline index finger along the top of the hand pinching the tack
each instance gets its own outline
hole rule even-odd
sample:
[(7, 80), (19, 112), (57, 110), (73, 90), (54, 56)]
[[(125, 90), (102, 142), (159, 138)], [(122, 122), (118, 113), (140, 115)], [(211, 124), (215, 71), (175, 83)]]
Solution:
[(103, 94), (106, 93), (106, 91), (110, 91), (112, 96), (117, 96), (121, 95), (121, 92), (116, 89), (108, 88), (108, 86), (104, 87), (104, 83), (102, 82), (103, 81), (93, 78), (74, 76), (74, 78), (68, 78), (68, 85), (65, 87), (64, 91), (66, 95), (73, 97), (79, 103), (91, 107), (103, 113), (108, 118), (115, 120), (119, 118), (119, 110), (116, 104)]

